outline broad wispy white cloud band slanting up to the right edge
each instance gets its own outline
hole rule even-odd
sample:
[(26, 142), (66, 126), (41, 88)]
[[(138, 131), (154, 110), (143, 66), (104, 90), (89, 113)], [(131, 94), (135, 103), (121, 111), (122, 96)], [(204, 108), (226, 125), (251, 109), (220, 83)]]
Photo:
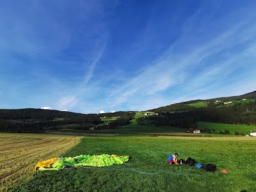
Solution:
[[(186, 52), (173, 51), (175, 47), (184, 46), (182, 43), (188, 38), (184, 36), (156, 61), (150, 63), (140, 75), (129, 79), (120, 89), (114, 90), (110, 95), (113, 106), (136, 100), (134, 98), (139, 97), (141, 98), (138, 99), (138, 103), (143, 103), (144, 100), (154, 97), (156, 93), (162, 91), (172, 93), (173, 86), (181, 86), (180, 92), (187, 95), (191, 92), (202, 93), (200, 92), (202, 87), (205, 88), (204, 92), (207, 92), (207, 86), (220, 82), (220, 79), (224, 80), (225, 76), (244, 65), (248, 52), (250, 50), (252, 52), (255, 47), (255, 27), (255, 25), (252, 26), (252, 20), (246, 20), (204, 44), (193, 45)], [(241, 45), (246, 49), (239, 51)], [(227, 55), (221, 58), (218, 54)], [(214, 57), (216, 57), (215, 60)], [(250, 54), (250, 58), (253, 59), (255, 56)], [(148, 95), (152, 96), (148, 97)], [(191, 97), (192, 95), (194, 94), (191, 94)], [(150, 106), (154, 104), (148, 104), (148, 108)]]

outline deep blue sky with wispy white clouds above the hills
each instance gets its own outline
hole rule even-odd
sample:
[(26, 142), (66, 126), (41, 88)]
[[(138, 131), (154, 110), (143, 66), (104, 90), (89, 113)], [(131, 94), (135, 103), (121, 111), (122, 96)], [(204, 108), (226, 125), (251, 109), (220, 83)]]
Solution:
[(0, 108), (143, 111), (256, 90), (256, 1), (0, 2)]

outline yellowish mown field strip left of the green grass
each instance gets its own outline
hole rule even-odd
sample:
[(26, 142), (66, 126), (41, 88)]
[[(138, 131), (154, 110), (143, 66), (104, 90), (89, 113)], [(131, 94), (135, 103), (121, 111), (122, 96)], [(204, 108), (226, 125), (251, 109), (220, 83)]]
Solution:
[(80, 139), (79, 136), (0, 133), (0, 191), (31, 176), (38, 161), (60, 156)]

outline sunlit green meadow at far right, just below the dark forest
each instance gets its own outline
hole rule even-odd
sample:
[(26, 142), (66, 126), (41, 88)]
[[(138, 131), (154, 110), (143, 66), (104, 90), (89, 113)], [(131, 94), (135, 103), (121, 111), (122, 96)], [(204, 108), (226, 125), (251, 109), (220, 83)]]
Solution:
[(234, 124), (218, 124), (218, 123), (208, 123), (208, 122), (198, 122), (198, 129), (210, 128), (215, 129), (216, 132), (224, 131), (227, 129), (231, 134), (235, 134), (235, 132), (239, 133), (247, 133), (249, 134), (251, 131), (256, 131), (256, 126), (253, 125), (234, 125)]

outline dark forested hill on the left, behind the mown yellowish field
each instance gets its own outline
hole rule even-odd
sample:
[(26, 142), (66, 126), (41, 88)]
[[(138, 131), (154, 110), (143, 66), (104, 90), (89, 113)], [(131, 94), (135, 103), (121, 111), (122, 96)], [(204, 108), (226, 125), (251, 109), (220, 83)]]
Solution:
[[(135, 113), (81, 114), (44, 109), (0, 109), (0, 132), (45, 132), (62, 129), (113, 129), (129, 124)], [(105, 125), (101, 116), (116, 116)]]

